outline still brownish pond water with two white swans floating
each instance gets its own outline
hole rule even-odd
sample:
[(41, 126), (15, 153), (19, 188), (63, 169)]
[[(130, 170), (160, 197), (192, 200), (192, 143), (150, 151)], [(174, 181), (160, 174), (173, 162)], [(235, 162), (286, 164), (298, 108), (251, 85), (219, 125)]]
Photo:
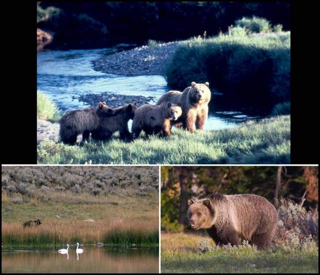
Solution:
[(82, 254), (74, 246), (64, 255), (60, 248), (2, 247), (1, 273), (158, 273), (158, 248), (83, 245)]

